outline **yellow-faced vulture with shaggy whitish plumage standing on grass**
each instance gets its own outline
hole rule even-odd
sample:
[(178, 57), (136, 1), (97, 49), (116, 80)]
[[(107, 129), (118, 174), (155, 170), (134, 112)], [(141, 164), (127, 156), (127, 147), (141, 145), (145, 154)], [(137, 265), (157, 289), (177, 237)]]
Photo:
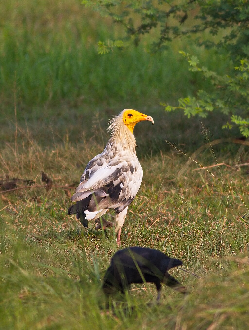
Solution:
[[(134, 126), (142, 120), (154, 124), (152, 117), (131, 109), (123, 110), (110, 120), (110, 139), (104, 151), (86, 165), (71, 197), (76, 204), (68, 209), (68, 214), (76, 214), (85, 227), (87, 220), (98, 219), (113, 209), (118, 245), (128, 206), (137, 195), (143, 176), (133, 135)], [(112, 226), (108, 221), (103, 222), (105, 227)]]

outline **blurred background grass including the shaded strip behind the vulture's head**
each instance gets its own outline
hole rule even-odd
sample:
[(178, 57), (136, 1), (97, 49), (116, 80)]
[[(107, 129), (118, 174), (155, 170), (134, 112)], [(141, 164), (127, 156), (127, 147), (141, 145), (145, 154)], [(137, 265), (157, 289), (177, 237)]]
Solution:
[[(188, 71), (180, 49), (197, 54), (220, 73), (229, 66), (225, 58), (181, 40), (162, 54), (152, 55), (140, 46), (98, 55), (98, 40), (122, 36), (123, 31), (76, 0), (2, 2), (0, 20), (0, 145), (15, 139), (16, 120), (18, 141), (25, 143), (28, 131), (28, 139), (43, 147), (63, 143), (65, 136), (81, 143), (95, 135), (89, 128), (96, 124), (105, 131), (109, 116), (125, 108), (149, 113), (160, 123), (157, 136), (151, 137), (157, 151), (166, 148), (165, 140), (199, 145), (200, 134), (194, 139), (192, 134), (193, 127), (201, 132), (199, 118), (190, 122), (181, 112), (165, 114), (159, 104), (177, 105), (178, 98), (209, 86)], [(218, 126), (215, 136), (233, 135), (220, 132), (227, 117), (216, 116), (204, 120), (208, 127)]]

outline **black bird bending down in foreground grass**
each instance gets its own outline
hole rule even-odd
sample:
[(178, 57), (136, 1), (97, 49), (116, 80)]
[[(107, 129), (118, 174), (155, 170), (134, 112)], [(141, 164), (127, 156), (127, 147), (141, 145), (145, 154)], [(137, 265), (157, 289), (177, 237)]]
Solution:
[(182, 265), (182, 261), (168, 257), (151, 248), (129, 247), (116, 252), (106, 271), (102, 288), (105, 294), (129, 289), (131, 283), (155, 283), (160, 299), (161, 282), (181, 293), (187, 293), (186, 287), (176, 281), (168, 270)]

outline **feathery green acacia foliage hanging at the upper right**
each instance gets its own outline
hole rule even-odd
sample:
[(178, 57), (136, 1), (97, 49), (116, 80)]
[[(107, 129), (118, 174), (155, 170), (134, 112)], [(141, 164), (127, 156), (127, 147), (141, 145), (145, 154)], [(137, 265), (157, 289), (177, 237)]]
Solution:
[[(152, 37), (153, 52), (168, 49), (176, 37), (186, 37), (199, 47), (227, 56), (231, 69), (219, 75), (212, 68), (201, 66), (194, 54), (181, 51), (189, 62), (189, 70), (198, 71), (212, 87), (208, 91), (199, 90), (196, 97), (179, 99), (179, 107), (165, 104), (165, 109), (183, 109), (188, 117), (196, 114), (206, 117), (218, 110), (228, 116), (223, 128), (237, 125), (241, 134), (249, 137), (248, 0), (84, 0), (83, 3), (111, 16), (125, 29), (122, 40), (99, 41), (101, 54), (131, 43), (138, 45), (141, 35), (159, 28), (160, 32)], [(204, 31), (207, 33), (203, 34)]]

